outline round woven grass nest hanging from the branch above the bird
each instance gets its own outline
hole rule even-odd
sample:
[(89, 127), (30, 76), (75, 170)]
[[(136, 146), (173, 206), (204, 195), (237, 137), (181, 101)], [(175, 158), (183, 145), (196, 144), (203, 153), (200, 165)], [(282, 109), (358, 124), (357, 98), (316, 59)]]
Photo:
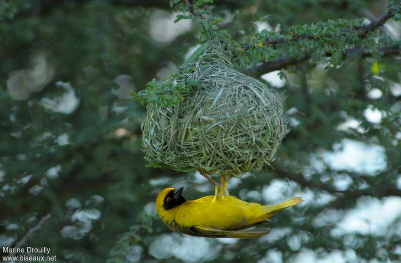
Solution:
[(189, 72), (183, 73), (185, 81), (203, 85), (178, 105), (148, 108), (142, 123), (147, 161), (230, 178), (260, 171), (275, 159), (288, 120), (266, 85), (234, 70), (216, 45), (178, 71)]

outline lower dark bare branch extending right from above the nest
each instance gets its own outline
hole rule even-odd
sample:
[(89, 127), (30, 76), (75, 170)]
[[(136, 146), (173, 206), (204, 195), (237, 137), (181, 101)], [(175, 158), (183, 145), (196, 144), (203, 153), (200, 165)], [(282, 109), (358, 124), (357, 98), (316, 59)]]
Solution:
[[(379, 53), (382, 56), (387, 55), (399, 55), (401, 54), (401, 47), (400, 46), (388, 46), (388, 47), (380, 47), (378, 48)], [(373, 55), (373, 50), (367, 48), (351, 48), (344, 51), (343, 56), (348, 57), (351, 55), (360, 56), (362, 58), (371, 57)], [(331, 53), (326, 53), (326, 57), (331, 57)], [(267, 73), (274, 70), (281, 70), (283, 68), (287, 68), (289, 66), (296, 66), (299, 65), (308, 59), (311, 58), (311, 54), (306, 54), (305, 57), (301, 58), (294, 58), (294, 57), (281, 57), (278, 59), (270, 60), (264, 62), (260, 66), (256, 67), (255, 69), (246, 69), (245, 73)]]

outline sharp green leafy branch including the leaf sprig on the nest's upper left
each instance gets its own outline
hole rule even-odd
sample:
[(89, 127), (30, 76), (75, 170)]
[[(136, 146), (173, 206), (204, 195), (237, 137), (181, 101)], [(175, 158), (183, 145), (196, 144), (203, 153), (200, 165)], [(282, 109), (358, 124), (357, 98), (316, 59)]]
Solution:
[[(233, 54), (235, 66), (246, 68), (251, 65), (250, 69), (246, 69), (247, 73), (265, 73), (273, 70), (283, 72), (282, 69), (309, 59), (319, 61), (328, 58), (330, 64), (336, 66), (348, 57), (400, 54), (399, 43), (382, 38), (376, 32), (376, 29), (390, 18), (401, 19), (399, 0), (389, 1), (388, 10), (368, 25), (363, 25), (362, 19), (331, 20), (311, 26), (296, 25), (287, 35), (263, 30), (248, 43), (237, 42), (227, 31), (219, 29), (218, 24), (223, 20), (213, 17), (209, 10), (199, 9), (206, 3), (213, 3), (213, 0), (170, 0), (170, 7), (181, 13), (177, 15), (175, 22), (182, 19), (194, 21), (198, 25), (195, 36), (200, 42), (220, 42), (224, 49)], [(385, 45), (379, 46), (377, 42)], [(279, 47), (281, 44), (284, 47)], [(262, 64), (257, 65), (260, 62)], [(142, 105), (170, 107), (178, 104), (191, 88), (199, 85), (188, 83), (185, 74), (177, 70), (163, 83), (153, 79), (146, 84), (145, 90), (138, 94), (132, 93), (132, 100)]]

